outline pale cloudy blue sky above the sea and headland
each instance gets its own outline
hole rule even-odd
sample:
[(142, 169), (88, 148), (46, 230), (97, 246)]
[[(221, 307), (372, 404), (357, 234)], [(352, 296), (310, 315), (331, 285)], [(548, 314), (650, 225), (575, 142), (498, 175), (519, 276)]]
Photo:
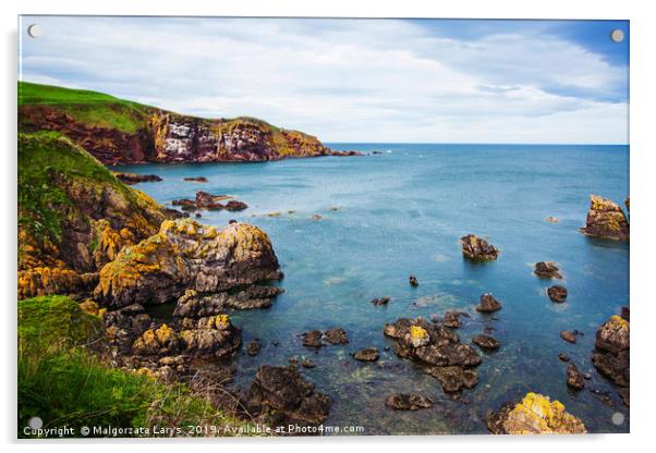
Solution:
[[(31, 38), (31, 24), (41, 27)], [(23, 81), (324, 142), (627, 144), (627, 21), (24, 16)], [(625, 39), (610, 39), (612, 29)]]

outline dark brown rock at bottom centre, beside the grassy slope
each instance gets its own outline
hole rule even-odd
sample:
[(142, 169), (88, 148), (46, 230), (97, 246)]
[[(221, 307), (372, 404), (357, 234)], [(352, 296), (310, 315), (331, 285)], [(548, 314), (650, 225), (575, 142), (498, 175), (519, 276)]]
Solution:
[(316, 391), (295, 368), (265, 365), (257, 370), (242, 404), (253, 421), (276, 429), (289, 425), (317, 426), (326, 421), (331, 400)]

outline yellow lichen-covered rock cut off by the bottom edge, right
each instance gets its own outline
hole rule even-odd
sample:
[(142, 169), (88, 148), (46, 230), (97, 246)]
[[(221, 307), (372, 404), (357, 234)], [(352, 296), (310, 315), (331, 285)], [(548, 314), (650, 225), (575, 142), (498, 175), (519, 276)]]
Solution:
[(487, 417), (487, 428), (495, 434), (581, 434), (583, 421), (566, 411), (559, 401), (526, 393), (519, 403), (505, 403)]

